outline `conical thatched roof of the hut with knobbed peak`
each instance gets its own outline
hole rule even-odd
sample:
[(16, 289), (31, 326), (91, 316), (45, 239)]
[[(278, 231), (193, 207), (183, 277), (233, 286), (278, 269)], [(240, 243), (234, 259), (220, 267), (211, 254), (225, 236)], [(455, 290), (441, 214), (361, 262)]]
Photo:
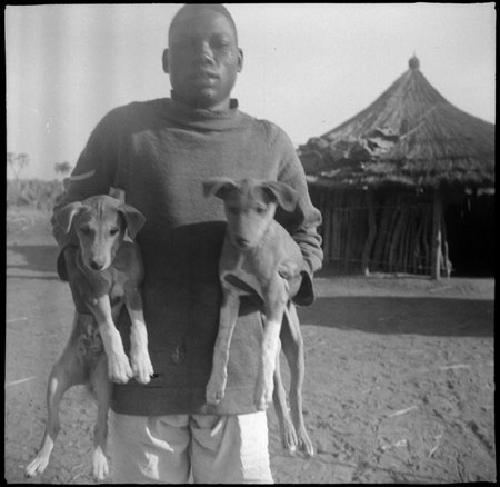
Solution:
[(373, 103), (299, 156), (311, 182), (422, 189), (494, 186), (494, 125), (448, 102), (424, 78), (419, 60)]

